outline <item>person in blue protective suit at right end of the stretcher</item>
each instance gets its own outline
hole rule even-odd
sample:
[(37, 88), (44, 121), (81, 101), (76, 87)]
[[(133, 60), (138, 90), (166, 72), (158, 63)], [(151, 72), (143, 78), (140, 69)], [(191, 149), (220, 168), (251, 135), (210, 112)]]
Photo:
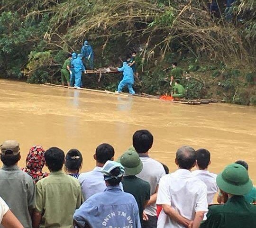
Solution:
[(135, 94), (135, 91), (133, 90), (133, 84), (134, 84), (134, 77), (133, 77), (133, 70), (130, 66), (128, 66), (127, 62), (123, 62), (123, 66), (121, 68), (117, 68), (119, 72), (123, 72), (123, 79), (121, 82), (119, 82), (118, 85), (118, 93), (122, 92), (122, 89), (124, 86), (128, 87), (129, 93)]

